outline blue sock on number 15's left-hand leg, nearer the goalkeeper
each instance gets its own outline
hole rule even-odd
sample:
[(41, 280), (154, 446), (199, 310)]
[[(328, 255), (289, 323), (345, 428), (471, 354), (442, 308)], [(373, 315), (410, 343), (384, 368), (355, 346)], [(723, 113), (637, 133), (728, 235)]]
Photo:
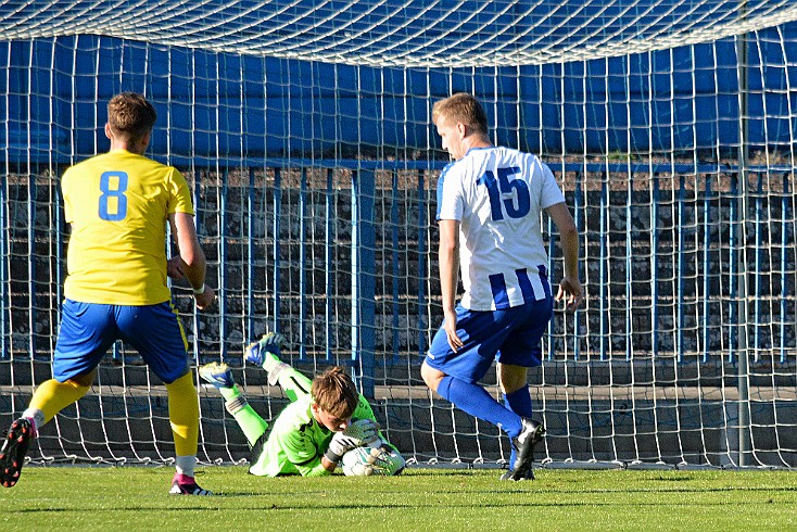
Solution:
[(454, 403), (460, 410), (501, 427), (509, 434), (509, 438), (520, 434), (522, 429), (520, 416), (495, 401), (479, 384), (471, 384), (455, 377), (445, 376), (440, 381), (438, 393), (443, 398)]

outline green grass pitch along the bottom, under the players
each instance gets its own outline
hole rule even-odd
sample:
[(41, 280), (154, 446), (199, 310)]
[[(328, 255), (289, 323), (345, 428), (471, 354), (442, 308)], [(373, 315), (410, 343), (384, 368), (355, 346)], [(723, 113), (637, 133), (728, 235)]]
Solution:
[(38, 467), (0, 489), (0, 530), (797, 530), (797, 472), (410, 468), (395, 478), (256, 478), (200, 468), (214, 497), (169, 496), (166, 467)]

